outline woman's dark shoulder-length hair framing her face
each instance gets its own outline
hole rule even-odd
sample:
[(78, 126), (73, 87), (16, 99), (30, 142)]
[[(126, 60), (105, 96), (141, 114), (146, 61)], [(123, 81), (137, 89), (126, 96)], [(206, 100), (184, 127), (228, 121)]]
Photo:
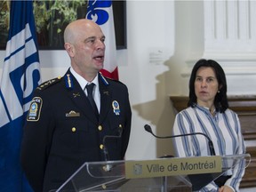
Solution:
[(196, 81), (196, 72), (198, 68), (201, 67), (210, 67), (214, 70), (215, 76), (218, 80), (220, 90), (217, 92), (214, 99), (214, 106), (216, 111), (224, 113), (228, 108), (228, 97), (227, 97), (227, 81), (223, 68), (215, 60), (198, 60), (192, 69), (192, 73), (189, 80), (189, 100), (188, 107), (196, 107), (196, 92), (195, 92), (195, 81)]

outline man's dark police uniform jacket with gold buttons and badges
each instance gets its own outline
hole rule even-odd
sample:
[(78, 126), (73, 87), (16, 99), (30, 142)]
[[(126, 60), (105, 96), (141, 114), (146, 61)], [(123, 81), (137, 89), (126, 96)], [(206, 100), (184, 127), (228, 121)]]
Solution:
[(99, 73), (99, 88), (99, 120), (69, 69), (36, 88), (21, 145), (21, 165), (35, 192), (60, 188), (84, 162), (124, 159), (132, 117), (127, 87)]

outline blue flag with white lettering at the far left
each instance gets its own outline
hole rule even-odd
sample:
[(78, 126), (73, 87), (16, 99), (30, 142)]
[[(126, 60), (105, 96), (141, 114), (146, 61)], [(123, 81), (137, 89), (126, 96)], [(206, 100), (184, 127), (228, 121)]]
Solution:
[(32, 92), (41, 83), (32, 1), (11, 1), (5, 52), (0, 84), (0, 190), (32, 191), (20, 166), (24, 119)]

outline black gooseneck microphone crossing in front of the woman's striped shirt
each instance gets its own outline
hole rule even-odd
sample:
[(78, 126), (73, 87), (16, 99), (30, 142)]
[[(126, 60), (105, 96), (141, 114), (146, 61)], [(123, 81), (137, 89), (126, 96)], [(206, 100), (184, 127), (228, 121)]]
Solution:
[(152, 132), (152, 129), (151, 129), (150, 125), (145, 124), (144, 129), (147, 132), (150, 132), (154, 137), (156, 137), (158, 139), (170, 139), (170, 138), (176, 138), (176, 137), (186, 137), (186, 136), (189, 136), (189, 135), (197, 135), (197, 134), (204, 135), (204, 137), (207, 138), (207, 140), (208, 140), (208, 147), (209, 147), (211, 156), (216, 156), (212, 140), (209, 138), (208, 135), (204, 134), (203, 132), (192, 132), (192, 133), (187, 133), (187, 134), (160, 137), (160, 136), (157, 136), (156, 134), (154, 134), (154, 132)]

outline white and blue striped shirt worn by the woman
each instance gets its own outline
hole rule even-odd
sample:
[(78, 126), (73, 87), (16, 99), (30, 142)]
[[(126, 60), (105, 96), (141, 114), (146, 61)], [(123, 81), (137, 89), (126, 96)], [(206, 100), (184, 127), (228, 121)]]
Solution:
[[(217, 156), (238, 155), (245, 153), (244, 139), (237, 114), (227, 109), (225, 113), (216, 112), (214, 116), (209, 108), (196, 105), (195, 108), (186, 108), (177, 114), (173, 135), (192, 132), (203, 132), (208, 135)], [(210, 156), (208, 140), (204, 135), (178, 137), (173, 140), (176, 156)], [(244, 162), (241, 161), (233, 170), (227, 172), (232, 175), (225, 185), (239, 191), (239, 184), (244, 176)], [(239, 169), (240, 168), (240, 169)], [(200, 191), (218, 191), (217, 185), (212, 182)]]

